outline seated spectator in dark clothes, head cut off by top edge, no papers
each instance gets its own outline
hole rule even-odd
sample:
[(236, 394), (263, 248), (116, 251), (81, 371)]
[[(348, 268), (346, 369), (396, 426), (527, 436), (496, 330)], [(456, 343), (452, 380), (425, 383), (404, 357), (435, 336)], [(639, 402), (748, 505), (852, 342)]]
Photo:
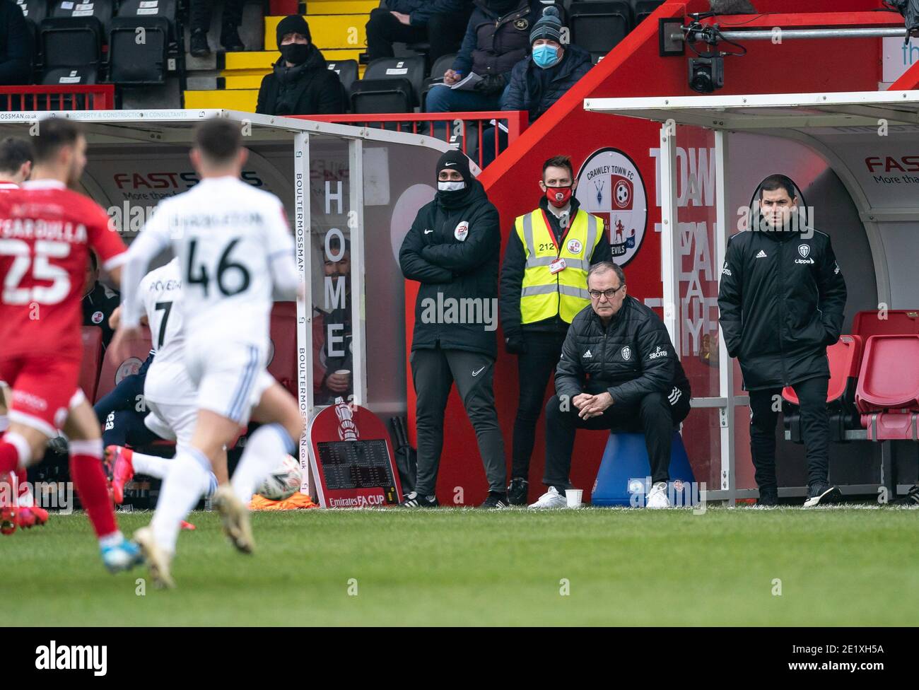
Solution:
[(387, 0), (370, 12), (368, 57), (391, 58), (393, 43), (427, 41), (428, 60), (434, 62), (459, 50), (471, 12), (471, 0)]

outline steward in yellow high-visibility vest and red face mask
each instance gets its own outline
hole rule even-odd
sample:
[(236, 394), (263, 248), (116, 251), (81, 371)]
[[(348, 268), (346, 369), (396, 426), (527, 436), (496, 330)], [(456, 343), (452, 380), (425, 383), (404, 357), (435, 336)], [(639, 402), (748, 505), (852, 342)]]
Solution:
[(520, 395), (514, 421), (512, 505), (528, 497), (529, 458), (546, 384), (559, 363), (574, 315), (590, 304), (587, 270), (612, 261), (603, 219), (580, 209), (571, 159), (542, 164), (539, 206), (514, 221), (501, 266), (501, 327), (517, 356)]

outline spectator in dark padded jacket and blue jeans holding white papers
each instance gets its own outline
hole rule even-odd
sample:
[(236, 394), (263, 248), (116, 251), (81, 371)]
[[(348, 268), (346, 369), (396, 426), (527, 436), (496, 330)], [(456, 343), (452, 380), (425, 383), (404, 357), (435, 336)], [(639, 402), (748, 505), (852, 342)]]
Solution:
[[(529, 31), (539, 19), (539, 0), (475, 0), (466, 36), (444, 85), (427, 94), (431, 113), (497, 110), (511, 68), (527, 55)], [(481, 81), (471, 89), (449, 88), (469, 74)]]

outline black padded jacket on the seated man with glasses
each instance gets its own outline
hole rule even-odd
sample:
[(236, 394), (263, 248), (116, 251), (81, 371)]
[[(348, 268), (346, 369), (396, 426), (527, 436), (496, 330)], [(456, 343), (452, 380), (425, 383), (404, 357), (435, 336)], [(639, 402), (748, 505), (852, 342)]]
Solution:
[(614, 405), (633, 405), (675, 388), (691, 394), (670, 334), (650, 307), (627, 295), (607, 326), (590, 305), (574, 317), (555, 372), (560, 397), (606, 391)]

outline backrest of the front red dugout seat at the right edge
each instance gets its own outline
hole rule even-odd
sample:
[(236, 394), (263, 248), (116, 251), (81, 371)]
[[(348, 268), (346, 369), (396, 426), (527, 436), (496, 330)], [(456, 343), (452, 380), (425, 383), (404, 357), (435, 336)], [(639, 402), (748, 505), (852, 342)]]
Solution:
[(919, 334), (868, 338), (856, 404), (863, 413), (919, 411)]

